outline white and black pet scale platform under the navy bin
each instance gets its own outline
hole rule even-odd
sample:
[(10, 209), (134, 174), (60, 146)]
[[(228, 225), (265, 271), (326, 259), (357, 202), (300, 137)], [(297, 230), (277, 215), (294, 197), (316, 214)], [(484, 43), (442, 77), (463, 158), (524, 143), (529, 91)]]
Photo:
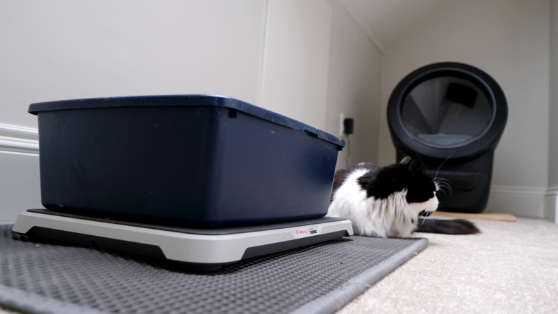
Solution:
[(13, 231), (30, 237), (166, 258), (197, 268), (295, 249), (353, 234), (349, 220), (323, 217), (296, 222), (194, 229), (107, 220), (32, 209), (20, 213)]

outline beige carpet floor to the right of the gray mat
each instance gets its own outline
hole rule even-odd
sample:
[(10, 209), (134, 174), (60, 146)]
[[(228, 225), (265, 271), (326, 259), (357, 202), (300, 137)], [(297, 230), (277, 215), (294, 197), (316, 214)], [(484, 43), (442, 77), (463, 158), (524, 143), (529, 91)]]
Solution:
[(428, 248), (337, 314), (558, 313), (558, 225), (471, 221), (482, 234), (415, 234)]

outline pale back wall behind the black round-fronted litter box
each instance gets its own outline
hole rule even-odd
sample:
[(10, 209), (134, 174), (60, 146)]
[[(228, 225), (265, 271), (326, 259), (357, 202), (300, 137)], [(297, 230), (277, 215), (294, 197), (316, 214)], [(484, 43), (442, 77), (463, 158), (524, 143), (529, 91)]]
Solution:
[(442, 61), (468, 63), (495, 78), (509, 106), (495, 153), (487, 211), (543, 217), (547, 187), (550, 4), (450, 0), (388, 46), (383, 57), (379, 163), (395, 162), (385, 112), (395, 85)]

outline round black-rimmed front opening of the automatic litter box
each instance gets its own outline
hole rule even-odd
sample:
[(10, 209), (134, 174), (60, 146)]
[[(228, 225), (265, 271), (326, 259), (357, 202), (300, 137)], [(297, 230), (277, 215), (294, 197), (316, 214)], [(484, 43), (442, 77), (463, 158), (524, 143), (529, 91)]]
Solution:
[(497, 82), (463, 63), (419, 68), (397, 84), (387, 103), (396, 146), (445, 159), (476, 156), (494, 147), (507, 120), (507, 102)]

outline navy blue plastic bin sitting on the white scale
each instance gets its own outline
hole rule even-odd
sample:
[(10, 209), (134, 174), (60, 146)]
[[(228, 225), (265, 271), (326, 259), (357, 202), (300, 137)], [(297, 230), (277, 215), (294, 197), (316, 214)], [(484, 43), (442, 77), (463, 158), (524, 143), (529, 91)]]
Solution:
[(328, 212), (342, 139), (222, 96), (33, 103), (46, 208), (199, 227)]

